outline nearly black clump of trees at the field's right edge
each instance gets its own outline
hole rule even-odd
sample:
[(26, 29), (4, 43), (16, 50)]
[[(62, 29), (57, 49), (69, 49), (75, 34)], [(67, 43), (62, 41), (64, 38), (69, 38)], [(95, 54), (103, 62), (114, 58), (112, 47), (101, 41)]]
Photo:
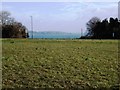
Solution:
[(90, 39), (120, 39), (120, 21), (118, 18), (100, 20), (98, 17), (91, 18), (87, 24), (88, 33), (83, 38)]

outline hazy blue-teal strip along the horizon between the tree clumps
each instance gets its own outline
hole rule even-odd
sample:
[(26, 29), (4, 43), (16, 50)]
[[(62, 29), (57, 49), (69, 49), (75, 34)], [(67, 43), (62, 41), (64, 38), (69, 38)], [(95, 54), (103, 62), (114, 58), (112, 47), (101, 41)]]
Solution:
[[(29, 31), (29, 38), (32, 37), (32, 32)], [(66, 38), (74, 39), (79, 38), (80, 33), (66, 33), (66, 32), (56, 32), (56, 31), (45, 31), (45, 32), (33, 32), (33, 38)]]

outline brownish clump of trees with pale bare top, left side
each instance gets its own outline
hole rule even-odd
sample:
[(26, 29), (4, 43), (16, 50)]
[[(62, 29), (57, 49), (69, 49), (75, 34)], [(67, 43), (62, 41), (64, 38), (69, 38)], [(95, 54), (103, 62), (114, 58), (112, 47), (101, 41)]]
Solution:
[(0, 32), (2, 38), (28, 38), (28, 30), (11, 17), (10, 12), (0, 11)]

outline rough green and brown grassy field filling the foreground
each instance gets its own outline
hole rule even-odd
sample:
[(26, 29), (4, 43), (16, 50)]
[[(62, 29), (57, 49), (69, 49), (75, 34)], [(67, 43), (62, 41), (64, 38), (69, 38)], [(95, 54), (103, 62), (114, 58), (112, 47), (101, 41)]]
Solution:
[(3, 88), (110, 88), (117, 40), (2, 40)]

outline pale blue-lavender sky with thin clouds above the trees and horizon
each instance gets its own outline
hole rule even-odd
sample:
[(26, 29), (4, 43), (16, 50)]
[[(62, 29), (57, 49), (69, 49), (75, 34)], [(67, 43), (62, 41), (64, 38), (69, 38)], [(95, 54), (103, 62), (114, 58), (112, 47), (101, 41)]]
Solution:
[[(90, 0), (89, 0), (90, 1)], [(107, 0), (106, 0), (107, 1)], [(118, 17), (118, 2), (2, 2), (2, 10), (34, 31), (86, 32), (92, 17)]]

